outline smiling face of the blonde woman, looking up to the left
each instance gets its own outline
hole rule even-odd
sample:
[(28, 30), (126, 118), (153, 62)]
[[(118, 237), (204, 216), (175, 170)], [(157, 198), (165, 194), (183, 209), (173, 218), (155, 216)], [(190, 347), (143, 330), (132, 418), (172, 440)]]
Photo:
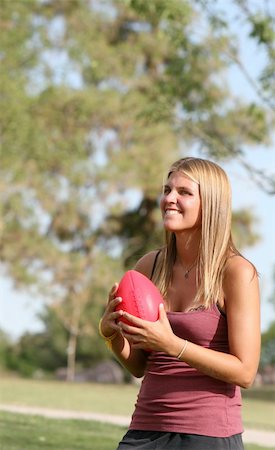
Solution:
[(199, 185), (181, 172), (169, 176), (160, 200), (166, 230), (180, 232), (201, 227)]

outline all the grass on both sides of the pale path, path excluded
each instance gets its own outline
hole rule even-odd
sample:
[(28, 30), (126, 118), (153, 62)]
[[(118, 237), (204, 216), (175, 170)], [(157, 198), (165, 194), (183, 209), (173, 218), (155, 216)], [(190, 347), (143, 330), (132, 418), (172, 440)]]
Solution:
[[(0, 403), (130, 415), (137, 386), (0, 379)], [(244, 399), (246, 427), (275, 431), (274, 402)], [(114, 450), (125, 428), (81, 420), (0, 413), (0, 450)], [(246, 445), (245, 450), (265, 447)], [(269, 447), (269, 450), (275, 450)]]

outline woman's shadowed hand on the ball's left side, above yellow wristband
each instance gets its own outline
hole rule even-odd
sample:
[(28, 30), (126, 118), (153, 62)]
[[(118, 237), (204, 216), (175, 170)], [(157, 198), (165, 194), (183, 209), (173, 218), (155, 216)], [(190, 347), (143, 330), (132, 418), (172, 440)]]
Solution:
[(116, 297), (117, 289), (118, 283), (115, 283), (109, 292), (108, 304), (102, 316), (101, 331), (107, 338), (112, 336), (116, 331), (120, 331), (117, 320), (122, 316), (123, 311), (116, 311), (117, 305), (122, 301), (121, 297)]

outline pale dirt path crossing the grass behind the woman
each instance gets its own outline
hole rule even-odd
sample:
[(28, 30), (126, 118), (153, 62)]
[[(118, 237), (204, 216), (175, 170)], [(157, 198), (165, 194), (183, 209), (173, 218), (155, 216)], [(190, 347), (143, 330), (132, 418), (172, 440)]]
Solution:
[[(128, 416), (114, 416), (111, 414), (100, 414), (92, 412), (37, 408), (31, 406), (19, 405), (5, 405), (0, 404), (0, 410), (6, 412), (13, 412), (19, 414), (33, 414), (54, 419), (81, 419), (81, 420), (96, 420), (99, 422), (108, 422), (114, 425), (128, 426), (130, 418)], [(243, 441), (245, 443), (253, 443), (264, 445), (266, 447), (275, 448), (275, 432), (260, 431), (247, 429), (243, 433)]]

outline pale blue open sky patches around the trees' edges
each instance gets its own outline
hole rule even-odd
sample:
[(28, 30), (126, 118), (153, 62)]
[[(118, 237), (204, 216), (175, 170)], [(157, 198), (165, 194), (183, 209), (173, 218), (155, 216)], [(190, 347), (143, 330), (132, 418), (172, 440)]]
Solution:
[[(261, 56), (259, 49), (253, 47), (245, 38), (245, 31), (247, 30), (243, 28), (239, 33), (242, 59), (249, 72), (256, 75)], [(255, 95), (236, 68), (231, 69), (229, 83), (236, 95), (241, 93), (249, 99)], [(275, 172), (275, 152), (272, 148), (250, 148), (246, 160), (256, 168), (265, 169), (269, 174)], [(233, 209), (248, 207), (258, 217), (256, 231), (261, 235), (261, 239), (254, 247), (245, 249), (243, 254), (260, 273), (261, 328), (265, 331), (271, 321), (275, 320), (275, 309), (268, 302), (272, 293), (272, 271), (275, 267), (275, 198), (263, 192), (252, 180), (251, 174), (245, 172), (236, 161), (222, 166), (231, 181)], [(3, 272), (0, 273), (0, 328), (12, 339), (17, 339), (26, 331), (42, 330), (42, 323), (37, 317), (42, 307), (42, 299), (32, 298), (16, 290), (12, 281)]]

